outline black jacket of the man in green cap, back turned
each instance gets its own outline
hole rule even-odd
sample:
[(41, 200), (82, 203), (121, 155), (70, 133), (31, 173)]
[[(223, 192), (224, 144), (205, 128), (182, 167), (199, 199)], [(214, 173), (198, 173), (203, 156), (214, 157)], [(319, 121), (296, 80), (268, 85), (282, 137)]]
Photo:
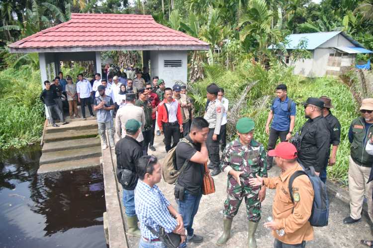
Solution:
[(143, 155), (142, 146), (136, 141), (136, 139), (126, 135), (116, 143), (115, 153), (116, 177), (119, 183), (123, 186), (123, 182), (121, 182), (123, 169), (131, 170), (134, 173), (132, 182), (129, 186), (123, 186), (123, 188), (134, 190), (138, 180), (136, 164), (137, 160)]

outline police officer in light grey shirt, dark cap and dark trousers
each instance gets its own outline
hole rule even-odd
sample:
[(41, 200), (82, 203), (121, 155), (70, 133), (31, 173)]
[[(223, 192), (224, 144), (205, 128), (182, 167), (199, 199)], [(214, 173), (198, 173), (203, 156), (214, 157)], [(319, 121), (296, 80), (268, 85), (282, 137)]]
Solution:
[(208, 122), (208, 136), (206, 146), (208, 157), (210, 159), (209, 169), (212, 169), (211, 176), (218, 175), (221, 170), (219, 168), (219, 143), (220, 143), (220, 127), (225, 112), (224, 105), (217, 99), (219, 87), (212, 83), (207, 86), (208, 103), (206, 112), (203, 118)]

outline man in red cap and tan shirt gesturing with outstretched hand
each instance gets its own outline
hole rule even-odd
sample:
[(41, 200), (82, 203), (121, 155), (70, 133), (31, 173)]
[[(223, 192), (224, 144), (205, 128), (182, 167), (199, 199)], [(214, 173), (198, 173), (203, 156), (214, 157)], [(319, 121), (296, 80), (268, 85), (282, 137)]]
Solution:
[(257, 175), (257, 178), (249, 180), (251, 186), (276, 188), (272, 206), (273, 220), (264, 225), (273, 230), (275, 248), (304, 248), (306, 241), (313, 239), (313, 228), (308, 221), (314, 197), (311, 182), (306, 175), (294, 179), (293, 203), (289, 194), (289, 180), (294, 172), (303, 170), (296, 161), (295, 146), (289, 142), (281, 142), (268, 155), (275, 157), (276, 164), (282, 171), (280, 177), (261, 178)]

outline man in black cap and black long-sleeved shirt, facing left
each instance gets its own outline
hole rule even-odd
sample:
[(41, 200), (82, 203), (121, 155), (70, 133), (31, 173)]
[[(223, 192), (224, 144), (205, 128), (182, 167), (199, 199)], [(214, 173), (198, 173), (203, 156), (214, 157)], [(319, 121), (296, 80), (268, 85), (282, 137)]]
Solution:
[(304, 166), (313, 166), (317, 175), (327, 165), (330, 149), (330, 127), (322, 116), (324, 102), (309, 97), (303, 102), (305, 117), (308, 119), (301, 128), (298, 162)]

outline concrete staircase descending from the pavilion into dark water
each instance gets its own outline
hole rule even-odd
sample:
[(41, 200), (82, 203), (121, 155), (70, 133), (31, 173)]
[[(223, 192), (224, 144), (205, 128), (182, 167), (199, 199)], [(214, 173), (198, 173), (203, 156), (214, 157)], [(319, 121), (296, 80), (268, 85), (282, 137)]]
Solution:
[(38, 174), (99, 166), (101, 142), (96, 119), (67, 119), (69, 124), (46, 127)]

